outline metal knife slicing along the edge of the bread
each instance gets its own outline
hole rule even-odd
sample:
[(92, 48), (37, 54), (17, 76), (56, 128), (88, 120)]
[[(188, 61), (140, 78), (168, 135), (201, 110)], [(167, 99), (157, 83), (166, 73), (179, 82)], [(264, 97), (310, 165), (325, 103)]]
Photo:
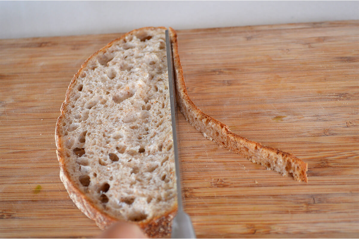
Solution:
[(172, 120), (172, 134), (173, 134), (173, 150), (174, 150), (174, 164), (176, 166), (176, 182), (177, 182), (177, 215), (172, 220), (172, 233), (171, 238), (196, 238), (195, 231), (192, 226), (190, 217), (183, 211), (182, 205), (182, 191), (181, 191), (181, 175), (180, 175), (180, 162), (178, 159), (177, 147), (177, 104), (176, 104), (176, 87), (174, 82), (173, 71), (173, 56), (172, 44), (169, 38), (168, 30), (166, 34), (166, 50), (167, 50), (167, 66), (168, 66), (168, 84), (169, 84), (169, 99), (171, 103), (171, 120)]

